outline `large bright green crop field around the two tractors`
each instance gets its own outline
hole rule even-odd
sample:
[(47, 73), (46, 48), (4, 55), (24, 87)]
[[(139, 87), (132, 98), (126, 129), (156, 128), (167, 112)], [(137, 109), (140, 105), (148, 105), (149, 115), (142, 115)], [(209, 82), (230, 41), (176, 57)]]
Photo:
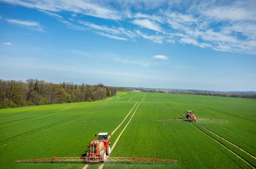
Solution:
[[(158, 121), (184, 117), (186, 110), (193, 110), (197, 118), (228, 121)], [(112, 157), (178, 162), (106, 162), (104, 169), (256, 167), (256, 100), (118, 92), (96, 102), (0, 109), (0, 168), (82, 169), (81, 162), (15, 160), (82, 156), (96, 133), (113, 132), (124, 119), (111, 137), (111, 143), (116, 142)], [(90, 164), (88, 169), (100, 165)]]

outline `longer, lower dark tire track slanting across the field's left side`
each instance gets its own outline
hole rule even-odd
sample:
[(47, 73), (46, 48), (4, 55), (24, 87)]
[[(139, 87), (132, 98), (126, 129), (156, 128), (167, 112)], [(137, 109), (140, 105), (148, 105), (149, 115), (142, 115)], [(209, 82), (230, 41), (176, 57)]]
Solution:
[[(69, 122), (69, 121), (71, 121), (71, 120), (77, 119), (77, 118), (82, 117), (82, 116), (84, 116), (84, 115), (88, 115), (88, 114), (90, 114), (90, 113), (92, 113), (92, 112), (94, 112), (94, 111), (96, 111), (96, 110), (102, 109), (103, 107), (105, 107), (105, 106), (107, 106), (107, 105), (108, 105), (108, 104), (106, 103), (106, 104), (104, 104), (104, 105), (102, 105), (102, 106), (99, 106), (99, 107), (97, 107), (97, 108), (95, 108), (95, 109), (93, 109), (93, 110), (90, 110), (89, 112), (83, 113), (83, 114), (81, 114), (81, 115), (76, 115), (76, 116), (70, 117), (70, 118), (68, 118), (68, 119), (66, 119), (66, 120), (62, 120), (62, 121), (59, 121), (59, 122), (56, 122), (56, 123), (53, 123), (53, 124), (49, 124), (49, 125), (47, 125), (47, 126), (40, 127), (40, 128), (38, 128), (38, 129), (31, 130), (31, 131), (29, 131), (29, 132), (25, 132), (25, 133), (22, 133), (22, 134), (20, 134), (20, 135), (16, 135), (16, 136), (14, 136), (14, 137), (11, 137), (11, 138), (2, 140), (2, 141), (0, 141), (0, 142), (4, 142), (4, 141), (7, 141), (7, 140), (11, 140), (11, 139), (14, 139), (14, 138), (16, 138), (16, 137), (23, 136), (23, 135), (25, 135), (24, 137), (27, 137), (27, 136), (29, 136), (29, 135), (32, 135), (32, 134), (41, 132), (41, 131), (43, 131), (43, 130), (45, 130), (45, 129), (49, 129), (49, 128), (51, 128), (51, 127), (58, 126), (58, 125), (60, 125), (60, 124), (62, 124), (62, 123)], [(29, 135), (26, 135), (26, 134), (29, 134)], [(20, 138), (24, 138), (24, 137), (20, 137)], [(13, 140), (13, 141), (20, 140), (20, 138), (16, 138), (16, 139)], [(11, 142), (9, 142), (9, 143), (12, 143), (13, 141), (11, 141)], [(1, 145), (0, 147), (5, 146), (5, 145), (7, 145), (7, 144), (9, 144), (9, 143), (3, 144), (3, 145)]]

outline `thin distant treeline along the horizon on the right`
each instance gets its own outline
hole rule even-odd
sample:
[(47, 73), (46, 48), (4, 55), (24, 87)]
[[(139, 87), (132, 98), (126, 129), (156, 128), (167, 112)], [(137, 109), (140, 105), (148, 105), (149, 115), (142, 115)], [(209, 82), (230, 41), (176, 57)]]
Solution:
[(186, 90), (143, 90), (142, 92), (156, 92), (156, 93), (172, 93), (172, 94), (183, 94), (183, 95), (204, 95), (204, 96), (217, 96), (217, 97), (236, 97), (244, 99), (256, 99), (256, 95), (242, 95), (242, 94), (228, 94), (228, 93), (213, 93), (213, 92), (193, 92)]

